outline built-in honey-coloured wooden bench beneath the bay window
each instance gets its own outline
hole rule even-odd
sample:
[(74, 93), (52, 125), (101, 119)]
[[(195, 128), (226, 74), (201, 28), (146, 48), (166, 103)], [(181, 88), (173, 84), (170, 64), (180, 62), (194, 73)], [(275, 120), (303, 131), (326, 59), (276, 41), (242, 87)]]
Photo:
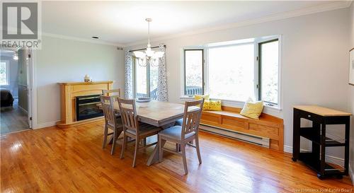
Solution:
[(239, 114), (240, 108), (222, 106), (222, 111), (203, 111), (201, 124), (269, 138), (270, 149), (283, 151), (284, 122), (262, 113), (258, 120)]

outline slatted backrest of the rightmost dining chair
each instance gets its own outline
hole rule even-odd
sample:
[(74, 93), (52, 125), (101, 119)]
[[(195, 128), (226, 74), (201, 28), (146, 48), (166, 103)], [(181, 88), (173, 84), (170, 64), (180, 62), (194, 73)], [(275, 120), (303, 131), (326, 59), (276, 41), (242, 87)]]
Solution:
[(193, 131), (195, 133), (198, 132), (200, 118), (202, 117), (203, 105), (204, 105), (204, 98), (200, 100), (185, 102), (183, 123), (182, 123), (182, 134), (181, 134), (182, 140), (184, 139), (185, 134), (189, 134)]

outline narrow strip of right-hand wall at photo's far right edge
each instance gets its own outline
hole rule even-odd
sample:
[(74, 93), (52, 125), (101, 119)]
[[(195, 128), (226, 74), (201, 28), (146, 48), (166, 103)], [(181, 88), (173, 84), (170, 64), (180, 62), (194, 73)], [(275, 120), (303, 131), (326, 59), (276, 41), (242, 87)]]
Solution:
[[(354, 4), (350, 6), (350, 45), (349, 49), (354, 48)], [(349, 86), (349, 93), (348, 93), (348, 108), (349, 111), (352, 112), (354, 115), (354, 86)], [(354, 184), (354, 118), (352, 116), (350, 122), (350, 168), (352, 170), (352, 182)]]

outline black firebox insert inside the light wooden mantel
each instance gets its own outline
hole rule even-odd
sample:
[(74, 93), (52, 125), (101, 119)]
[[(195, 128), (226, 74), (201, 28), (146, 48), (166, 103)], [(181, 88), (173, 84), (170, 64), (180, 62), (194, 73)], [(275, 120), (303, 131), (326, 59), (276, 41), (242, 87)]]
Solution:
[(76, 121), (103, 116), (103, 111), (97, 107), (101, 103), (100, 95), (85, 95), (76, 97)]

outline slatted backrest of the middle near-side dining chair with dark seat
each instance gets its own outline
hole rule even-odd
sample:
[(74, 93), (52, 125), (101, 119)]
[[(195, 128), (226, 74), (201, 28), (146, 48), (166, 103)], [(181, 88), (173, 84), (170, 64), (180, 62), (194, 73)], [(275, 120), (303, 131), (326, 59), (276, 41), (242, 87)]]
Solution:
[(118, 104), (124, 129), (135, 130), (136, 134), (138, 135), (139, 124), (137, 121), (137, 110), (135, 106), (135, 100), (118, 98)]

